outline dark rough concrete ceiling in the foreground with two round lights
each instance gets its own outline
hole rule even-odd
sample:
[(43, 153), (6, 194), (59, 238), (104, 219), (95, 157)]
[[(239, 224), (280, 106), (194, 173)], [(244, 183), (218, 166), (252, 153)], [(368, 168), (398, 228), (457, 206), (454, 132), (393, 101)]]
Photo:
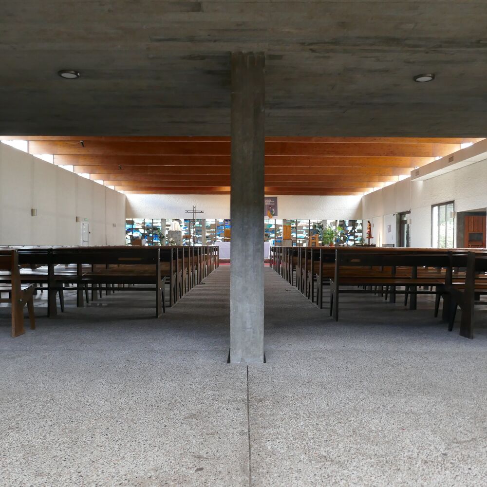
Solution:
[(486, 25), (487, 1), (5, 1), (0, 134), (228, 135), (254, 50), (268, 135), (483, 137)]

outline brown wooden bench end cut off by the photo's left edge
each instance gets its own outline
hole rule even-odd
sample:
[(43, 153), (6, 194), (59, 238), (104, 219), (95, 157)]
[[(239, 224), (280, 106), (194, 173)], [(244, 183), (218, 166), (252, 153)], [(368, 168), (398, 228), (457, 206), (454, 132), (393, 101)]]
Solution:
[[(24, 306), (27, 304), (31, 329), (36, 328), (34, 316), (34, 290), (33, 284), (20, 283), (19, 253), (17, 250), (0, 250), (0, 270), (10, 273), (10, 284), (0, 284), (0, 303), (12, 303), (12, 337), (18, 337), (24, 331)], [(2, 298), (2, 293), (8, 298)]]

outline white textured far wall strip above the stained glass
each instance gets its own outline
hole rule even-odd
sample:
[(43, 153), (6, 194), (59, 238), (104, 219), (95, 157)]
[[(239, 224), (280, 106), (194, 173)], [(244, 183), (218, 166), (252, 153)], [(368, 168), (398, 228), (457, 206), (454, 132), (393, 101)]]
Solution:
[[(229, 195), (128, 194), (127, 218), (188, 218), (185, 210), (204, 210), (201, 218), (230, 218)], [(278, 219), (359, 219), (361, 196), (278, 196)], [(262, 211), (262, 218), (264, 218)]]

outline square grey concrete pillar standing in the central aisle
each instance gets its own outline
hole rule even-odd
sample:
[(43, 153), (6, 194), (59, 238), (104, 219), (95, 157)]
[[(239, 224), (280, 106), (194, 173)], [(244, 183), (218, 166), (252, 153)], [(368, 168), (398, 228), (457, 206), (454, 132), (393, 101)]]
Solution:
[(231, 57), (230, 361), (264, 357), (264, 55)]

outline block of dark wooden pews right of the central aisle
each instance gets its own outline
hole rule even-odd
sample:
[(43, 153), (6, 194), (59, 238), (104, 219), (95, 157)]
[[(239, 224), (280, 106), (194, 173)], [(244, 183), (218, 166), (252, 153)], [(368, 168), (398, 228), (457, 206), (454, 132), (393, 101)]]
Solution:
[[(468, 265), (469, 253), (476, 263)], [(487, 294), (485, 249), (271, 247), (270, 255), (271, 267), (291, 284), (295, 274), (297, 288), (313, 302), (316, 290), (320, 308), (323, 288), (329, 286), (330, 316), (336, 320), (340, 294), (380, 293), (391, 302), (403, 294), (412, 310), (417, 295), (430, 294), (435, 295), (435, 316), (443, 299), (442, 319), (451, 331), (460, 307), (460, 335), (473, 337), (473, 306), (484, 304), (480, 296)]]

